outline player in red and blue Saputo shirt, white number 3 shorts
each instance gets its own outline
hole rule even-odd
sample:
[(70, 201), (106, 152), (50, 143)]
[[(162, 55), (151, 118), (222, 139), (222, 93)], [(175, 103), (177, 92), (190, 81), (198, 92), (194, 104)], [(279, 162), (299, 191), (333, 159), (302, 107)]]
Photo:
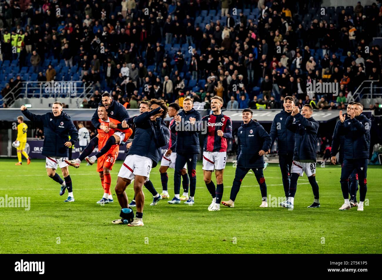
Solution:
[[(201, 125), (207, 127), (203, 148), (203, 176), (207, 190), (212, 196), (212, 203), (208, 211), (220, 211), (223, 196), (223, 171), (227, 162), (227, 139), (232, 137), (232, 123), (230, 117), (222, 113), (223, 98), (211, 98), (212, 114), (204, 116)], [(211, 180), (215, 170), (215, 184)]]

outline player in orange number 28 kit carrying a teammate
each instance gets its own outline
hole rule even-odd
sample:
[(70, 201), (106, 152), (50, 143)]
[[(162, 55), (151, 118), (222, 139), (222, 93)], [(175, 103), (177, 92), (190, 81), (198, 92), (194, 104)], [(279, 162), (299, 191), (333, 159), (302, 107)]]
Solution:
[[(119, 124), (120, 121), (108, 117), (107, 110), (104, 105), (99, 105), (98, 107), (98, 116), (99, 122), (102, 126), (109, 126), (111, 122), (113, 124)], [(104, 132), (102, 129), (98, 129), (98, 147), (103, 148), (108, 138), (115, 133), (116, 129), (110, 129), (108, 133)], [(126, 137), (130, 137), (133, 134), (131, 128), (124, 129), (123, 131)], [(117, 145), (118, 144), (118, 145)], [(97, 201), (98, 204), (105, 204), (113, 202), (113, 196), (110, 191), (110, 183), (112, 182), (110, 171), (113, 168), (115, 161), (117, 160), (119, 152), (119, 143), (115, 143), (110, 150), (103, 156), (101, 156), (97, 161), (97, 172), (99, 172), (99, 177), (101, 179), (102, 187), (104, 188), (104, 195), (100, 201)]]

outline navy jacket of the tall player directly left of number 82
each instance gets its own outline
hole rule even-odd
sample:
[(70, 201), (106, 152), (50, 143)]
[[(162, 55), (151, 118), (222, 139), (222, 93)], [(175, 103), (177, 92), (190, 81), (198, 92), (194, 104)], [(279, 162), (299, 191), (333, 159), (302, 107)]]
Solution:
[(295, 134), (286, 128), (286, 118), (291, 113), (287, 113), (285, 110), (281, 110), (272, 122), (270, 128), (271, 147), (277, 138), (277, 151), (278, 154), (292, 154), (295, 150)]

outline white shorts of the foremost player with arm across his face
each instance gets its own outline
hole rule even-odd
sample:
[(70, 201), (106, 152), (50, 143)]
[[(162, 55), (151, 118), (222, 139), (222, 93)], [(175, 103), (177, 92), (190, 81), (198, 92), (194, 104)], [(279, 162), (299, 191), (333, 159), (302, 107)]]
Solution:
[(135, 175), (146, 177), (146, 182), (149, 180), (150, 171), (152, 168), (152, 160), (146, 156), (138, 156), (137, 154), (129, 154), (126, 156), (118, 177), (133, 180)]

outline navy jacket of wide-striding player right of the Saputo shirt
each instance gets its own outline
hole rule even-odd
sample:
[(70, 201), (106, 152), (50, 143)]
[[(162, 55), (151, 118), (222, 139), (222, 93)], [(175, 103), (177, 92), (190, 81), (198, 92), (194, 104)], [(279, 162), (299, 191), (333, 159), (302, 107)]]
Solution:
[(270, 141), (269, 134), (258, 122), (251, 120), (248, 124), (241, 124), (238, 129), (237, 166), (264, 168), (264, 156), (259, 156), (259, 151), (267, 152)]

